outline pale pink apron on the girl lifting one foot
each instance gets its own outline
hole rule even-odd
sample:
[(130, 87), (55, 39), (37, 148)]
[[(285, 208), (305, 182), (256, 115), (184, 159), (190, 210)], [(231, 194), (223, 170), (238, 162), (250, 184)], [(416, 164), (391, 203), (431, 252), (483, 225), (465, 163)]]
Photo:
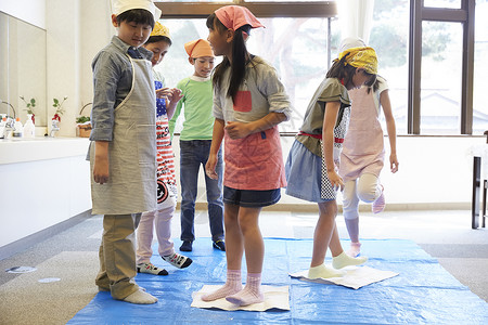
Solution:
[(368, 93), (367, 88), (349, 91), (352, 107), (339, 165), (339, 174), (345, 182), (356, 180), (362, 173), (380, 177), (383, 169), (383, 130), (374, 95), (372, 91)]

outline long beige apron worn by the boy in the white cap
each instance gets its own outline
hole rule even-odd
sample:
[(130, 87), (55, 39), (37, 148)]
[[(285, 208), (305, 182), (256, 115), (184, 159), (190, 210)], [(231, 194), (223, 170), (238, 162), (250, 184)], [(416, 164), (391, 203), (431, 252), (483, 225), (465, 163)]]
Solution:
[[(93, 214), (127, 214), (156, 210), (156, 94), (151, 62), (133, 60), (132, 88), (114, 110), (108, 144), (108, 182), (92, 179)], [(93, 178), (94, 145), (90, 148)]]

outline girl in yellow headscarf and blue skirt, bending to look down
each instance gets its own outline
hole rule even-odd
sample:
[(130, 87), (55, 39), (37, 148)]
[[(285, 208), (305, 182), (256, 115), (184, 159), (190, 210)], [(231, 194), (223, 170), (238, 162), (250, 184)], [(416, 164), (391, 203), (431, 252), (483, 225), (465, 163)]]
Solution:
[[(337, 269), (359, 265), (368, 260), (365, 257), (351, 258), (344, 252), (335, 224), (335, 198), (337, 190), (344, 186), (337, 174), (337, 165), (350, 114), (347, 91), (372, 83), (376, 69), (376, 53), (372, 48), (342, 52), (310, 101), (304, 125), (290, 151), (286, 194), (319, 205), (308, 271), (310, 278), (342, 276), (344, 273)], [(334, 269), (324, 264), (328, 247)]]

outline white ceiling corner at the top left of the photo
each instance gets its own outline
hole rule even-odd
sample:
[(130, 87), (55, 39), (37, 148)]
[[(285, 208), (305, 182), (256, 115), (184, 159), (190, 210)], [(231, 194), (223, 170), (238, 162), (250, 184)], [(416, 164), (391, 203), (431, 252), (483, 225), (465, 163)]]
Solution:
[(46, 0), (2, 0), (0, 11), (46, 29)]

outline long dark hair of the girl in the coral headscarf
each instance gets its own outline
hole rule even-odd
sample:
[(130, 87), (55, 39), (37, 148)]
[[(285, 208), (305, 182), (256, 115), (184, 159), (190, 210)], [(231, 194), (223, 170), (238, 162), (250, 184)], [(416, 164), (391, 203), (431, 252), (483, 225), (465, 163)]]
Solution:
[[(219, 32), (227, 30), (227, 27), (217, 18), (215, 13), (208, 16), (206, 24), (208, 29), (217, 28)], [(249, 35), (249, 31), (251, 25), (244, 25), (234, 30), (234, 38), (232, 40), (232, 63), (229, 62), (228, 57), (223, 57), (223, 61), (217, 65), (214, 70), (213, 84), (215, 88), (218, 88), (222, 82), (224, 72), (229, 67), (231, 68), (230, 84), (227, 95), (231, 96), (232, 100), (235, 99), (239, 87), (244, 81), (246, 75), (246, 63), (249, 58), (249, 53), (247, 52), (243, 32)]]

